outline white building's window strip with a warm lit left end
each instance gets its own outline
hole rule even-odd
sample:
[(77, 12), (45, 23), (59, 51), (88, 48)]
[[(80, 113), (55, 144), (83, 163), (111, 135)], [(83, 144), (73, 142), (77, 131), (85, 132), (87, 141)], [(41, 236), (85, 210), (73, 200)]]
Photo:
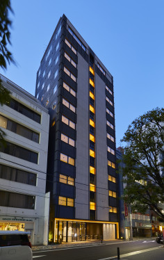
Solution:
[(9, 131), (17, 133), (20, 136), (24, 136), (25, 138), (28, 138), (29, 140), (39, 143), (39, 138), (40, 138), (39, 133), (36, 133), (35, 131), (32, 131), (31, 129), (23, 127), (22, 124), (18, 124), (17, 122), (14, 122), (13, 120), (3, 117), (2, 115), (0, 115), (0, 127), (8, 129)]

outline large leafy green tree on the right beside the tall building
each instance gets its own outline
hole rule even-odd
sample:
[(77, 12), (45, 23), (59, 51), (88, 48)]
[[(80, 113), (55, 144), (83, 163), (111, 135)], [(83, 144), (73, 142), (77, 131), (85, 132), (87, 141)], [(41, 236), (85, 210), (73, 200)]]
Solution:
[(132, 211), (147, 207), (164, 220), (164, 109), (156, 108), (134, 120), (123, 142), (124, 200)]

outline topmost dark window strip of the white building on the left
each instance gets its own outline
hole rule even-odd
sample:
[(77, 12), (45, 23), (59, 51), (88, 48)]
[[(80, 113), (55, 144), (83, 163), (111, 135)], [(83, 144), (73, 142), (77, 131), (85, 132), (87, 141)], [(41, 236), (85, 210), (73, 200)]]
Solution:
[(40, 124), (41, 116), (38, 113), (31, 110), (30, 108), (27, 108), (23, 104), (19, 103), (15, 99), (10, 99), (10, 101), (8, 103), (6, 103), (6, 105), (9, 106), (10, 108), (13, 108), (17, 112), (22, 113), (22, 115), (25, 115), (26, 117), (28, 117), (28, 118), (32, 119), (33, 121), (38, 122)]

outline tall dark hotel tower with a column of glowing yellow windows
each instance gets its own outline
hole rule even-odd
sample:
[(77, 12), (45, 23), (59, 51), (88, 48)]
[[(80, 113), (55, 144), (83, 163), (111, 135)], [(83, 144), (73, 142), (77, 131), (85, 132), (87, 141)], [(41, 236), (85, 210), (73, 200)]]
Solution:
[(113, 76), (63, 15), (35, 97), (49, 108), (49, 238), (118, 238)]

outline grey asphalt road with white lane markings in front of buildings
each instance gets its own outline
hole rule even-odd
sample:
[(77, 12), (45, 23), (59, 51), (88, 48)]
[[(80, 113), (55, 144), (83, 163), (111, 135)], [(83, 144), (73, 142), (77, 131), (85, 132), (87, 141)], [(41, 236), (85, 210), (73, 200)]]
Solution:
[(131, 241), (125, 243), (106, 243), (70, 247), (49, 251), (33, 252), (36, 260), (109, 260), (117, 259), (117, 247), (120, 247), (122, 260), (163, 260), (164, 247), (156, 241)]

